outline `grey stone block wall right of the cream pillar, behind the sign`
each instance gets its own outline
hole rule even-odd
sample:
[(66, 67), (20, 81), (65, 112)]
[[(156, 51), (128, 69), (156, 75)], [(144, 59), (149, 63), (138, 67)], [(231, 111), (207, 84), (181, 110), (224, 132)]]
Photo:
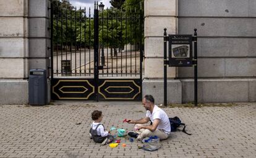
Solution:
[[(256, 1), (179, 0), (178, 33), (198, 36), (198, 101), (256, 101)], [(193, 67), (180, 67), (182, 102), (194, 101)]]

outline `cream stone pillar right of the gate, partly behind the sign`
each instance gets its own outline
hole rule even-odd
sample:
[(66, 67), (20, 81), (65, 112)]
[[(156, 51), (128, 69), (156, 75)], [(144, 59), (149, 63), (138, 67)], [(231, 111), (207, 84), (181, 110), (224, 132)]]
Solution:
[[(143, 95), (151, 94), (156, 104), (163, 103), (163, 32), (177, 33), (177, 0), (145, 0), (145, 75)], [(181, 81), (175, 67), (167, 68), (167, 101), (181, 103)]]

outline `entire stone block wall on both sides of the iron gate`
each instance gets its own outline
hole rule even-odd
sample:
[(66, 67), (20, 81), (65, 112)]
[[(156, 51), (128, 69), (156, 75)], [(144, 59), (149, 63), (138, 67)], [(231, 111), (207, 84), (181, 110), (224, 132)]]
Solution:
[[(48, 70), (48, 7), (48, 0), (0, 0), (0, 104), (27, 104), (28, 70)], [(254, 0), (145, 0), (143, 95), (163, 103), (163, 29), (197, 28), (198, 101), (256, 101), (255, 26)], [(169, 103), (194, 100), (193, 76), (193, 67), (168, 67)]]

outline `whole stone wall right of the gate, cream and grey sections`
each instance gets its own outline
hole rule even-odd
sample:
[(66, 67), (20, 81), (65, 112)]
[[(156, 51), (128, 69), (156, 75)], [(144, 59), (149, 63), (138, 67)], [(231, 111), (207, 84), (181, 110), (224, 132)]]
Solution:
[[(143, 94), (163, 103), (163, 28), (197, 28), (198, 102), (256, 101), (255, 17), (254, 0), (145, 0)], [(168, 71), (168, 103), (194, 101), (194, 67)]]

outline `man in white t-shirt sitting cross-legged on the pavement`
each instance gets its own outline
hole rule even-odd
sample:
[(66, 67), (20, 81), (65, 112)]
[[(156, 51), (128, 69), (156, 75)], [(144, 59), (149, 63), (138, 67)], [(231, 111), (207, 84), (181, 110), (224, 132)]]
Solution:
[[(164, 110), (155, 105), (155, 99), (151, 95), (145, 95), (142, 99), (143, 107), (147, 110), (146, 117), (140, 120), (128, 120), (134, 123), (134, 131), (129, 131), (128, 135), (139, 140), (148, 136), (158, 136), (161, 140), (167, 139), (171, 133), (171, 125), (168, 115)], [(151, 121), (151, 125), (143, 125)]]

